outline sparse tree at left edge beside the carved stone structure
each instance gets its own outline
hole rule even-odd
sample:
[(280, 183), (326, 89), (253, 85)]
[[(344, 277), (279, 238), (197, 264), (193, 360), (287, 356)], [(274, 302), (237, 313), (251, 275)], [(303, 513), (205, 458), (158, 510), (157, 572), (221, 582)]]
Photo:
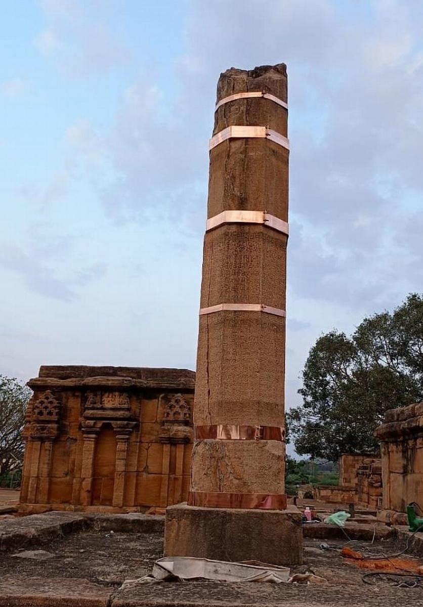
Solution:
[(15, 378), (0, 375), (0, 475), (21, 466), (24, 443), (21, 430), (32, 391)]

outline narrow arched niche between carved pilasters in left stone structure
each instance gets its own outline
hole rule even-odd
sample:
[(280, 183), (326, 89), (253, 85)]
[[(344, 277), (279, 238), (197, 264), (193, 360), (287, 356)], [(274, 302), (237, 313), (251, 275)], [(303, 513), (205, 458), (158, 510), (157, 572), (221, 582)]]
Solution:
[(112, 506), (116, 468), (116, 436), (110, 424), (103, 424), (97, 437), (93, 480), (92, 505)]

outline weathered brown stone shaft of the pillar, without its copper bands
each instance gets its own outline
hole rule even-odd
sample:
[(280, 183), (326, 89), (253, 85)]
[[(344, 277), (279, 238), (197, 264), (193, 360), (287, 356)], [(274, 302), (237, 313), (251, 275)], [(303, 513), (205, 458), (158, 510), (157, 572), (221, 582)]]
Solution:
[[(234, 92), (268, 92), (286, 102), (286, 66), (231, 68), (217, 101)], [(285, 107), (251, 97), (215, 113), (213, 135), (228, 126), (268, 126), (287, 135)], [(265, 138), (231, 138), (211, 149), (208, 218), (222, 211), (266, 211), (288, 221), (288, 150)], [(206, 232), (200, 308), (263, 304), (285, 310), (287, 235), (263, 224)], [(285, 317), (221, 310), (200, 315), (194, 424), (283, 427)], [(273, 443), (273, 444), (271, 444)], [(284, 493), (284, 444), (197, 441), (193, 492)]]

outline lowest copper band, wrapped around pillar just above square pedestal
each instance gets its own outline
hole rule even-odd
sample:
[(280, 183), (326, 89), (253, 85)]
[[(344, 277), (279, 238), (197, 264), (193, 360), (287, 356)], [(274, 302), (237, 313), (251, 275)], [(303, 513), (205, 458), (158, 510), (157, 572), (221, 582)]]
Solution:
[(281, 493), (221, 493), (190, 491), (188, 506), (202, 508), (248, 508), (263, 510), (285, 510), (286, 495)]

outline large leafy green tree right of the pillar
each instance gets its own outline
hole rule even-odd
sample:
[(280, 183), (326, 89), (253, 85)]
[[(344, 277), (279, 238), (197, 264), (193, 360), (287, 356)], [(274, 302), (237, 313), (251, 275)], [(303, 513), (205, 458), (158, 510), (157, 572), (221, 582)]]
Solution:
[(299, 455), (336, 461), (377, 450), (385, 411), (423, 400), (423, 295), (365, 318), (351, 337), (320, 336), (302, 379), (303, 404), (286, 415)]

